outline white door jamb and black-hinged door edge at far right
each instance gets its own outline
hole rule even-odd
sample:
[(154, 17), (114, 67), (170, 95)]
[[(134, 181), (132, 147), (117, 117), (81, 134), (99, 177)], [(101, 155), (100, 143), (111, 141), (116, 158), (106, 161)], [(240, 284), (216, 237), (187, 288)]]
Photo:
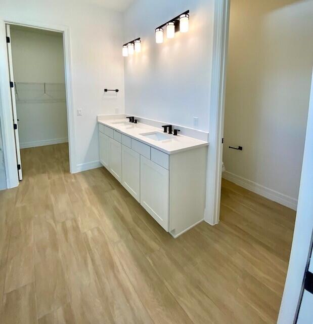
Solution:
[[(313, 78), (313, 71), (312, 71)], [(313, 323), (313, 80), (298, 197), (296, 223), (278, 324)], [(309, 258), (310, 257), (310, 258)], [(310, 288), (311, 285), (311, 288)]]

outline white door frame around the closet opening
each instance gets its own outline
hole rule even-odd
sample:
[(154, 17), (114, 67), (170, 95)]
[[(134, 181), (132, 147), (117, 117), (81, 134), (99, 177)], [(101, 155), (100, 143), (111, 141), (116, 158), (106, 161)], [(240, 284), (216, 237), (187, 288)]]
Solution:
[(7, 188), (19, 185), (17, 159), (15, 152), (15, 139), (13, 130), (13, 116), (11, 108), (9, 62), (7, 57), (6, 24), (20, 25), (25, 27), (39, 28), (62, 32), (64, 51), (64, 72), (67, 106), (67, 129), (69, 143), (69, 167), (70, 173), (76, 172), (76, 150), (75, 150), (75, 123), (73, 110), (71, 54), (70, 54), (70, 30), (63, 25), (39, 24), (33, 21), (12, 21), (2, 19), (0, 21), (0, 119), (3, 138), (4, 160), (7, 178)]

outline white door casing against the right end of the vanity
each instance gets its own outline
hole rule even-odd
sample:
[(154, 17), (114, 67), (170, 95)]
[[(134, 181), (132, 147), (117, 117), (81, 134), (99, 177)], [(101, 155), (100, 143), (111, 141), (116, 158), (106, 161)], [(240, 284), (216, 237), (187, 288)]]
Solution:
[(230, 0), (215, 0), (211, 78), (211, 102), (209, 105), (209, 149), (206, 179), (206, 203), (204, 219), (210, 225), (219, 221), (222, 143), (226, 88), (226, 60), (229, 33)]

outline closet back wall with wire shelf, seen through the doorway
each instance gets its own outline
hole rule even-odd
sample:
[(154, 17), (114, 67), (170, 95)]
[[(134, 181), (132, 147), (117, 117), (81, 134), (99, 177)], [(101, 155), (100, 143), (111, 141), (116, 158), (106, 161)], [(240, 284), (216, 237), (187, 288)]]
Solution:
[(67, 142), (62, 33), (12, 25), (11, 47), (20, 147)]

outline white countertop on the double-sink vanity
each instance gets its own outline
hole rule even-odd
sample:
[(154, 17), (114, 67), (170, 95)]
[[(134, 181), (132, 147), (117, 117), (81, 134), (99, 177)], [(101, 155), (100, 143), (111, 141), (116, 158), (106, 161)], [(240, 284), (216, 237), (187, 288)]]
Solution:
[[(99, 120), (99, 124), (108, 126), (124, 135), (127, 135), (133, 139), (136, 139), (140, 142), (148, 144), (164, 153), (173, 154), (181, 151), (186, 151), (196, 147), (207, 146), (208, 142), (201, 141), (192, 137), (183, 136), (183, 135), (169, 135), (163, 133), (163, 129), (152, 127), (142, 123), (129, 123), (128, 119), (107, 119)], [(119, 123), (126, 123), (125, 125)], [(168, 139), (156, 141), (142, 134), (158, 132), (163, 135), (167, 135)]]

